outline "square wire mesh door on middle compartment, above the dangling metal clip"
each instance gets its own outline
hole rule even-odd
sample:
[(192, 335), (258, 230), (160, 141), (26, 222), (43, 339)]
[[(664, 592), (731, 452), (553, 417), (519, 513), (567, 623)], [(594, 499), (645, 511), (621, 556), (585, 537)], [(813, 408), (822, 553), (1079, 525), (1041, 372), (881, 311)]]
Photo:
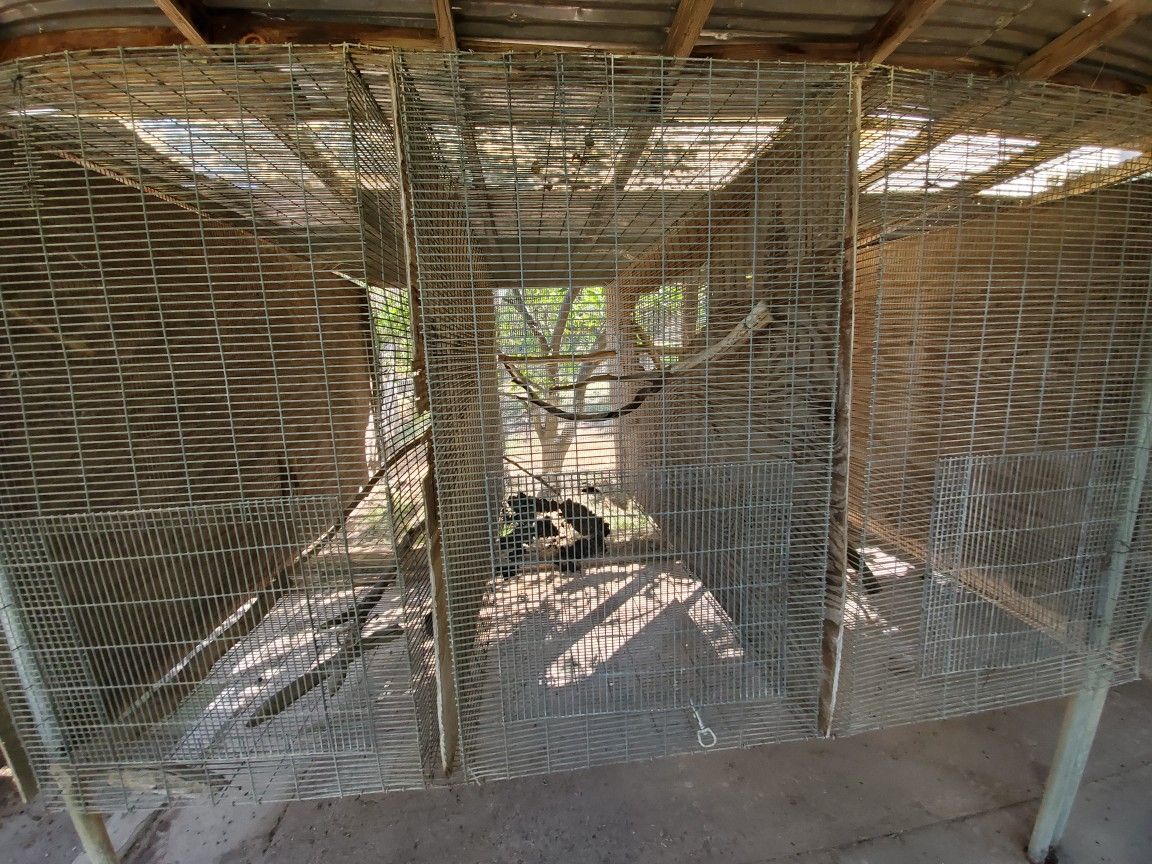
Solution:
[[(643, 479), (582, 472), (547, 486), (495, 478), (508, 499), (482, 638), (506, 726), (680, 710), (658, 721), (674, 723), (694, 706), (778, 696), (787, 668), (790, 469), (681, 465)], [(697, 525), (695, 536), (665, 538), (666, 514), (630, 499), (641, 483), (676, 495), (680, 506), (666, 506)], [(593, 528), (577, 537), (588, 522)], [(723, 571), (728, 597), (692, 575), (702, 566)], [(775, 602), (750, 614), (766, 592)], [(725, 612), (729, 605), (741, 608), (743, 624)]]

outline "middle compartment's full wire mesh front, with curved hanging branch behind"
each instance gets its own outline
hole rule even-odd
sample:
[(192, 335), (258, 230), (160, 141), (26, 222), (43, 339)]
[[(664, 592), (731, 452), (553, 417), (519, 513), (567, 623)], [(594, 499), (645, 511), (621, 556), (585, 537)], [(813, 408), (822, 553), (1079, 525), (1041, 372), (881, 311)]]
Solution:
[(465, 770), (814, 734), (850, 70), (402, 67)]

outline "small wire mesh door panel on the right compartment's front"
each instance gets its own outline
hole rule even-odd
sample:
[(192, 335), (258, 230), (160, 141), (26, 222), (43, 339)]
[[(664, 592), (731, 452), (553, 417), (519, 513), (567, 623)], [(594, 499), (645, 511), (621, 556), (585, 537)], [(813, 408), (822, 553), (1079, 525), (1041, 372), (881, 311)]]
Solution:
[[(1069, 643), (1087, 651), (1131, 470), (1130, 449), (1115, 447), (941, 460), (922, 674), (1051, 660)], [(978, 593), (992, 585), (1015, 608)]]

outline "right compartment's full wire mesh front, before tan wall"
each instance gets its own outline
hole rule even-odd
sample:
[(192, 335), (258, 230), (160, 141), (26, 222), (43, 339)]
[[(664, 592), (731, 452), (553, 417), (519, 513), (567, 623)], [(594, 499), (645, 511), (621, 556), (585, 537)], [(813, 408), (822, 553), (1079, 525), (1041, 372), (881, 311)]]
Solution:
[(890, 70), (864, 92), (836, 729), (1051, 698), (1099, 664), (1126, 680), (1150, 578), (1152, 111)]

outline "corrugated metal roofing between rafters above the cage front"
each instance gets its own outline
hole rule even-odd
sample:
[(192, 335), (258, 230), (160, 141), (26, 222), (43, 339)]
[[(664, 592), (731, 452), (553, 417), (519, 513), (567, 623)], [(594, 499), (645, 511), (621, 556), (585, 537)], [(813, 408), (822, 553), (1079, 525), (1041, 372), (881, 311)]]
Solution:
[[(204, 0), (209, 16), (247, 14), (270, 23), (324, 22), (431, 32), (432, 0)], [(676, 0), (454, 0), (465, 46), (553, 44), (659, 52)], [(758, 43), (813, 46), (808, 55), (847, 55), (892, 0), (717, 0), (698, 40), (702, 51)], [(947, 0), (900, 46), (892, 61), (916, 66), (956, 59), (1011, 67), (1107, 0)], [(164, 28), (152, 0), (0, 0), (0, 40), (90, 28)], [(343, 38), (343, 36), (339, 37)], [(1152, 18), (1134, 24), (1074, 65), (1082, 77), (1152, 84)]]

